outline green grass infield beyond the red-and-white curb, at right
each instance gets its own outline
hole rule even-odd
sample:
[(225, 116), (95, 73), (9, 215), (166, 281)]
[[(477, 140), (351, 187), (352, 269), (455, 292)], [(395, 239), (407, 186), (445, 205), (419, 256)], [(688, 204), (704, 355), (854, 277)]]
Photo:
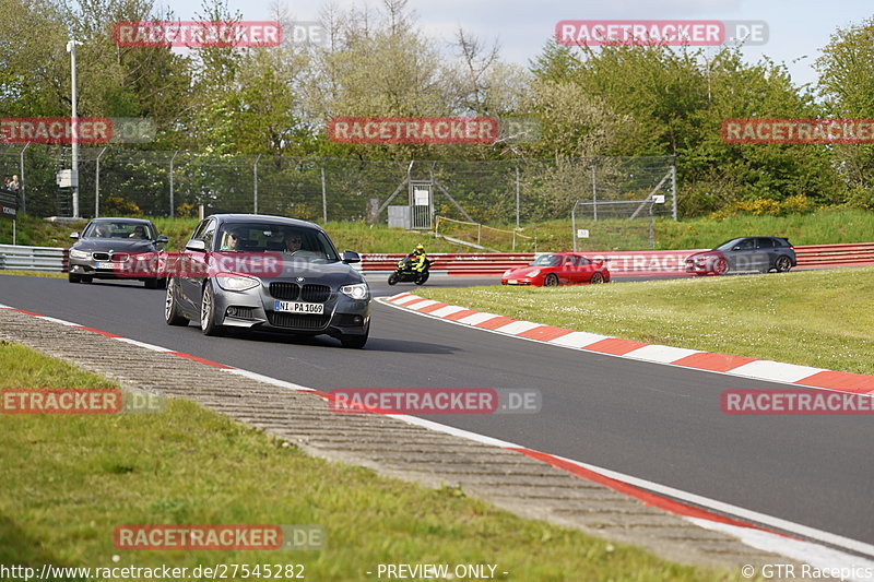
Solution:
[(638, 342), (874, 373), (874, 268), (621, 285), (421, 288), (471, 309)]

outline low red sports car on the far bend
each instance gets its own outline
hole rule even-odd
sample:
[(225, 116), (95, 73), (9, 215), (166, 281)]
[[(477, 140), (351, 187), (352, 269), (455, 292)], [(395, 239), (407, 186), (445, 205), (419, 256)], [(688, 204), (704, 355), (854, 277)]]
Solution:
[(508, 269), (500, 276), (501, 285), (554, 287), (579, 283), (607, 283), (610, 271), (603, 261), (592, 261), (579, 252), (541, 254), (528, 266)]

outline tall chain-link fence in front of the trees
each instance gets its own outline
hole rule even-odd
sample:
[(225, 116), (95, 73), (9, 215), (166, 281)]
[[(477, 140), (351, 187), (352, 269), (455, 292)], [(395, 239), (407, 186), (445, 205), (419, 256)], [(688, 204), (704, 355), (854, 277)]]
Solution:
[[(56, 183), (70, 158), (69, 145), (0, 144), (0, 174), (19, 175), (24, 212), (70, 216), (72, 189)], [(668, 156), (395, 162), (81, 146), (79, 200), (85, 217), (192, 216), (202, 204), (206, 214), (377, 223), (389, 203), (409, 203), (411, 182), (428, 181), (435, 214), (512, 226), (567, 219), (576, 201), (592, 197), (642, 199), (673, 164)]]

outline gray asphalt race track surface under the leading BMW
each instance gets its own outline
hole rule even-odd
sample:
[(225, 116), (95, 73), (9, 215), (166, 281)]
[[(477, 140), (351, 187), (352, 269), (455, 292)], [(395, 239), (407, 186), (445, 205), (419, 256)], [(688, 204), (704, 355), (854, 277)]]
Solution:
[[(429, 285), (484, 282), (435, 277)], [(382, 296), (414, 289), (379, 280), (373, 287)], [(430, 418), (874, 543), (871, 416), (721, 412), (724, 390), (786, 384), (539, 344), (376, 301), (363, 351), (343, 349), (327, 336), (205, 337), (194, 324), (170, 328), (164, 292), (141, 283), (2, 275), (0, 304), (321, 390), (536, 388), (543, 394), (539, 414)]]

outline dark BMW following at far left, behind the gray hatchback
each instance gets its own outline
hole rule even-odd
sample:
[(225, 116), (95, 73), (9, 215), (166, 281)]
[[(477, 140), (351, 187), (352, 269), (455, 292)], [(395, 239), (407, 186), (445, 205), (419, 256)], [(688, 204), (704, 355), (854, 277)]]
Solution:
[(161, 288), (164, 277), (126, 274), (123, 265), (134, 256), (163, 257), (167, 237), (158, 235), (151, 221), (142, 218), (94, 218), (70, 238), (68, 278), (70, 283), (91, 283), (94, 278), (140, 280), (149, 288)]

